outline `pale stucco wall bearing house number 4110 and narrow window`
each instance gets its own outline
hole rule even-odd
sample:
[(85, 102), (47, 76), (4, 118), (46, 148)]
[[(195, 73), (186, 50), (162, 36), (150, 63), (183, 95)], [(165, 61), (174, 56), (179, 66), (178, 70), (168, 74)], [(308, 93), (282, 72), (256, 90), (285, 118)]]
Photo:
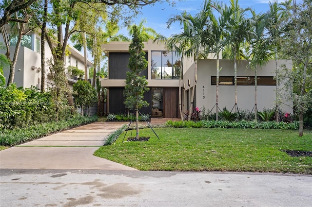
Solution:
[[(219, 76), (234, 76), (234, 60), (219, 60), (220, 68)], [(249, 62), (246, 60), (237, 61), (237, 76), (254, 76), (254, 70), (248, 67)], [(278, 60), (278, 67), (285, 64), (287, 68), (292, 68), (292, 62), (287, 60)], [(271, 60), (268, 64), (262, 68), (257, 68), (257, 76), (275, 76), (275, 60)], [(205, 107), (206, 110), (215, 111), (216, 103), (216, 86), (212, 85), (212, 76), (216, 76), (216, 60), (199, 60), (197, 66), (197, 78), (196, 78), (196, 92), (195, 92), (195, 106), (199, 108)], [(189, 99), (191, 92), (188, 90), (193, 86), (194, 79), (194, 65), (184, 75), (185, 94), (189, 93)], [(190, 86), (188, 82), (190, 80)], [(218, 107), (222, 110), (226, 107), (229, 111), (234, 108), (235, 105), (235, 91), (234, 85), (220, 85), (218, 96)], [(238, 109), (254, 110), (255, 106), (255, 87), (251, 86), (237, 86), (237, 107)], [(188, 96), (185, 95), (185, 102)], [(194, 106), (194, 107), (195, 107)], [(276, 86), (257, 86), (257, 109), (262, 111), (264, 108), (274, 108), (276, 106)], [(283, 111), (292, 112), (292, 103), (283, 103), (279, 107)], [(187, 107), (184, 107), (187, 110)]]

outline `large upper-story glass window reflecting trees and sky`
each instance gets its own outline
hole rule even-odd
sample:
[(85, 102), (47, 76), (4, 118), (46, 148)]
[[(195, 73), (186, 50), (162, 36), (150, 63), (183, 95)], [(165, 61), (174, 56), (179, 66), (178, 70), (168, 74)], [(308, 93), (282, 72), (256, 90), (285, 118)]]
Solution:
[(152, 79), (179, 79), (181, 57), (172, 51), (152, 51)]

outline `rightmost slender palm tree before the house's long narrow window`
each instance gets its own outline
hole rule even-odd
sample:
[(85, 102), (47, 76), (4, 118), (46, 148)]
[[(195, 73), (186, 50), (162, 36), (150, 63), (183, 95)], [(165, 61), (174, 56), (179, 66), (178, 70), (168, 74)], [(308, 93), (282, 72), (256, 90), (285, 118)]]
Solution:
[(277, 3), (277, 1), (274, 1), (273, 3), (269, 3), (270, 10), (266, 13), (266, 28), (268, 30), (268, 34), (270, 35), (270, 42), (271, 45), (274, 48), (274, 54), (275, 54), (275, 74), (276, 74), (276, 121), (279, 121), (279, 88), (278, 88), (278, 74), (279, 69), (277, 66), (277, 53), (280, 49), (279, 44), (279, 37), (285, 32), (285, 26), (282, 25), (281, 19), (286, 14), (285, 11), (283, 11), (282, 7)]

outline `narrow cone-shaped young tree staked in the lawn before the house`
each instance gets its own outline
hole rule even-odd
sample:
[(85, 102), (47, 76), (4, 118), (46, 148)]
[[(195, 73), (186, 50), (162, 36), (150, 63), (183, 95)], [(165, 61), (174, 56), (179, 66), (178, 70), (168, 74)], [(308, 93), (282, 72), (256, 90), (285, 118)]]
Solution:
[(126, 77), (124, 104), (127, 108), (135, 109), (136, 111), (137, 139), (139, 139), (138, 110), (143, 106), (149, 105), (146, 101), (144, 101), (144, 93), (149, 90), (149, 88), (146, 87), (148, 82), (146, 81), (144, 75), (141, 76), (141, 71), (145, 70), (148, 66), (143, 48), (144, 44), (142, 43), (142, 38), (139, 34), (138, 28), (137, 26), (134, 26), (132, 42), (129, 45), (130, 58), (128, 68), (130, 71), (127, 72)]

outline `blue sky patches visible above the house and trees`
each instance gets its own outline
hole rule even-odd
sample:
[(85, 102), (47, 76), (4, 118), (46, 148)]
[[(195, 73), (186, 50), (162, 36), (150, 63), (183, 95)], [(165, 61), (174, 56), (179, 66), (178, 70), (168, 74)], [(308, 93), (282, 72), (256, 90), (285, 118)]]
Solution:
[[(219, 0), (225, 3), (229, 3), (230, 0)], [(281, 2), (284, 0), (278, 0)], [(176, 1), (174, 7), (170, 6), (169, 3), (155, 3), (155, 5), (143, 6), (141, 13), (134, 18), (135, 23), (139, 23), (142, 19), (146, 19), (147, 23), (144, 24), (145, 27), (150, 27), (156, 30), (157, 33), (169, 37), (172, 34), (177, 34), (180, 31), (178, 24), (174, 24), (167, 29), (166, 22), (173, 15), (179, 15), (183, 11), (187, 11), (190, 14), (197, 14), (203, 4), (204, 0), (182, 0)], [(256, 13), (265, 13), (269, 10), (270, 0), (239, 0), (238, 3), (242, 8), (251, 7)], [(271, 0), (271, 2), (273, 2)], [(296, 0), (296, 3), (301, 3), (302, 0)], [(126, 28), (122, 28), (118, 34), (125, 36), (128, 35)]]

